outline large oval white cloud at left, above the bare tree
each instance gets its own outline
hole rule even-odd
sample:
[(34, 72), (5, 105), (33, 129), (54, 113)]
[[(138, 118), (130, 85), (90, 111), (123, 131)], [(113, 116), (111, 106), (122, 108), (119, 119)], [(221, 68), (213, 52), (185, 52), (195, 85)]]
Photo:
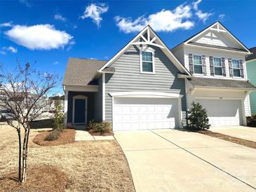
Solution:
[(64, 48), (72, 42), (73, 36), (55, 29), (53, 25), (15, 25), (5, 33), (11, 41), (31, 50)]

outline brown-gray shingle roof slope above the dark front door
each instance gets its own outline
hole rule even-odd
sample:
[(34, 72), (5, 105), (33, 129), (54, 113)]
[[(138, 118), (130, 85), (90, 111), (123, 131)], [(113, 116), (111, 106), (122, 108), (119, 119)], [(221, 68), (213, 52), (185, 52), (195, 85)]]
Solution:
[(63, 85), (88, 85), (107, 61), (69, 58)]

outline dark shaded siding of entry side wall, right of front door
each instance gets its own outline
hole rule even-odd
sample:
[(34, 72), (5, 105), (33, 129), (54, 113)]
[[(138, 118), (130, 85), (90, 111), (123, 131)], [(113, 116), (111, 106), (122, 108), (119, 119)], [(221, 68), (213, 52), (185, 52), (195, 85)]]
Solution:
[(95, 121), (102, 121), (102, 76), (97, 79), (99, 83), (99, 90), (95, 92), (94, 98), (94, 119)]

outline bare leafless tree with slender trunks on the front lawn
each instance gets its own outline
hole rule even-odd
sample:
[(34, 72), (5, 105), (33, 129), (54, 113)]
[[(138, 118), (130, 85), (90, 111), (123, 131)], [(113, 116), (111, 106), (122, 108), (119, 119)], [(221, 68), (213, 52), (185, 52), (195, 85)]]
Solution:
[(10, 111), (6, 121), (17, 130), (18, 181), (25, 182), (30, 124), (43, 113), (43, 107), (48, 104), (45, 100), (47, 94), (57, 85), (59, 78), (53, 74), (42, 74), (29, 63), (23, 66), (17, 62), (17, 66), (11, 72), (6, 70), (4, 65), (0, 65), (0, 71), (0, 108)]

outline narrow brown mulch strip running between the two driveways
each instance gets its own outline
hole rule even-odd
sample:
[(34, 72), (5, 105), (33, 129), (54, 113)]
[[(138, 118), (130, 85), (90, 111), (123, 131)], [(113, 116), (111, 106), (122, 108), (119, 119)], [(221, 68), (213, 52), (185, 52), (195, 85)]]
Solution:
[(232, 137), (232, 136), (229, 136), (229, 135), (221, 134), (219, 132), (212, 132), (210, 130), (201, 130), (201, 131), (198, 131), (198, 132), (201, 133), (201, 134), (204, 134), (204, 135), (208, 135), (210, 137), (215, 137), (215, 138), (222, 139), (222, 140), (225, 140), (225, 141), (228, 141), (228, 142), (233, 142), (233, 143), (236, 143), (236, 144), (241, 144), (243, 146), (248, 146), (250, 148), (256, 149), (256, 142), (252, 142), (252, 141), (249, 141), (249, 140), (246, 140), (246, 139)]

